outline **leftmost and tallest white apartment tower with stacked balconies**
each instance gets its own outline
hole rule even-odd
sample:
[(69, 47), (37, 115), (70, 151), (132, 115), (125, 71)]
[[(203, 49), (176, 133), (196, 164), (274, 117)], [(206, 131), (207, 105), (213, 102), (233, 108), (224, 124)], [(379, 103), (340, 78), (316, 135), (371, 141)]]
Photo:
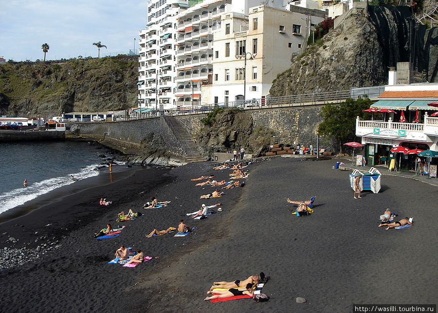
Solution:
[(139, 108), (165, 110), (175, 106), (176, 16), (187, 7), (189, 0), (148, 2), (148, 23), (139, 32)]

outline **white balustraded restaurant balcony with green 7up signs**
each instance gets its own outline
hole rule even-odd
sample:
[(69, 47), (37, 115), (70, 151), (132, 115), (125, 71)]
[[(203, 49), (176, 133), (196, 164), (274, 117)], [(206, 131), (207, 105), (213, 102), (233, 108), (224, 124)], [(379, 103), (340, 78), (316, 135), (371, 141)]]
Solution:
[(438, 117), (424, 116), (424, 124), (361, 121), (356, 119), (356, 136), (430, 142), (438, 135)]

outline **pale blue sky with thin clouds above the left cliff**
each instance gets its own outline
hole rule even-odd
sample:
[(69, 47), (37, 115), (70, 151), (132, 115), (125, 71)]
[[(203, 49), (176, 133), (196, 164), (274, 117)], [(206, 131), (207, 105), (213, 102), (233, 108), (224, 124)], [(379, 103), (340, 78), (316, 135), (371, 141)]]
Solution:
[(0, 0), (0, 56), (14, 61), (97, 57), (138, 50), (146, 0)]

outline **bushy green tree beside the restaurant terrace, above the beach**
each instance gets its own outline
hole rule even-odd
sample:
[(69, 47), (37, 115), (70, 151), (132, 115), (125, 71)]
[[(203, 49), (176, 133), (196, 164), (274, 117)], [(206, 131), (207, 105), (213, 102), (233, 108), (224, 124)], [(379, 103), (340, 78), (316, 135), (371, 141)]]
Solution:
[(318, 133), (326, 137), (332, 137), (339, 141), (341, 153), (344, 153), (343, 145), (356, 133), (356, 117), (369, 116), (363, 110), (369, 108), (373, 102), (365, 95), (357, 100), (348, 98), (342, 103), (329, 103), (322, 108), (320, 116), (324, 121), (318, 126)]

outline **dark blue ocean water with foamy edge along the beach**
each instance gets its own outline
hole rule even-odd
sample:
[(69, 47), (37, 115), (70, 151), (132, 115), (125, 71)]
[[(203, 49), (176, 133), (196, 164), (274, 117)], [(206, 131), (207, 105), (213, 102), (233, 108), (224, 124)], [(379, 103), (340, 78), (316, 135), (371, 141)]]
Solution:
[(98, 175), (103, 151), (84, 142), (0, 143), (0, 213), (74, 184), (70, 175)]

